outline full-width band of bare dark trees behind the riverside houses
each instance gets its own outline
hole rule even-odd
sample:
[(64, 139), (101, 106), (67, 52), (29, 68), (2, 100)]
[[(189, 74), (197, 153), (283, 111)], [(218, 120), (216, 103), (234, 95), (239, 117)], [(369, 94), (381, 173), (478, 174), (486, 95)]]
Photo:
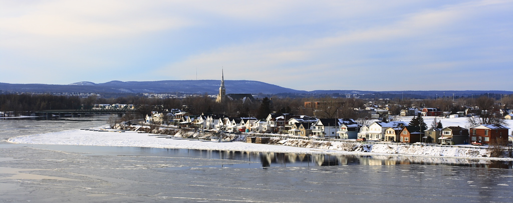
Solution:
[[(305, 103), (310, 102), (310, 103)], [(313, 103), (312, 103), (313, 102)], [(482, 95), (476, 98), (452, 99), (359, 99), (359, 98), (289, 98), (268, 96), (255, 101), (231, 101), (216, 103), (207, 94), (185, 98), (148, 98), (140, 95), (102, 98), (96, 95), (81, 98), (78, 96), (55, 96), (50, 94), (3, 94), (0, 95), (0, 111), (12, 115), (30, 115), (37, 110), (51, 109), (90, 109), (94, 104), (133, 104), (137, 117), (150, 115), (151, 111), (163, 112), (181, 109), (193, 115), (217, 114), (228, 117), (255, 117), (263, 119), (270, 113), (306, 115), (317, 118), (368, 118), (366, 106), (388, 108), (390, 115), (399, 115), (407, 107), (433, 107), (441, 111), (456, 114), (472, 107), (468, 113), (479, 115), (480, 123), (494, 123), (499, 109), (513, 108), (513, 96), (501, 96), (500, 99)], [(468, 110), (467, 110), (468, 111)], [(7, 115), (6, 115), (7, 116)]]

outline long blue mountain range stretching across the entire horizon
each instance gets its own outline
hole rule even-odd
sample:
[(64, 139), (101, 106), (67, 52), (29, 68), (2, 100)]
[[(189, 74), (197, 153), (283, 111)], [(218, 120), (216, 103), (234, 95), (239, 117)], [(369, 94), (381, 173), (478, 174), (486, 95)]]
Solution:
[[(68, 85), (56, 84), (10, 84), (0, 83), (0, 93), (103, 93), (103, 94), (141, 94), (141, 93), (183, 93), (216, 95), (220, 80), (163, 80), (163, 81), (110, 81), (106, 83), (76, 82)], [(365, 95), (365, 98), (441, 98), (473, 97), (479, 95), (511, 95), (512, 91), (357, 91), (357, 90), (317, 90), (301, 91), (274, 84), (253, 80), (225, 80), (227, 94), (265, 94), (283, 96), (308, 95)]]

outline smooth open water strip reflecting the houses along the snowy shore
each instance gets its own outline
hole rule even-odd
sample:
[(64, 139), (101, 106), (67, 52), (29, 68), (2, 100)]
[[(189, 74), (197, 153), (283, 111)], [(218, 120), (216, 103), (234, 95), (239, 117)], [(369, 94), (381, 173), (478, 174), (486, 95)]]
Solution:
[(163, 156), (187, 159), (220, 159), (251, 162), (230, 167), (297, 167), (297, 166), (342, 166), (342, 165), (440, 165), (475, 168), (513, 169), (511, 161), (489, 161), (479, 159), (456, 159), (424, 156), (386, 156), (386, 155), (334, 155), (306, 153), (249, 152), (195, 149), (162, 149), (151, 147), (107, 147), (74, 145), (33, 145), (36, 148), (83, 152), (89, 155), (127, 155), (127, 156)]

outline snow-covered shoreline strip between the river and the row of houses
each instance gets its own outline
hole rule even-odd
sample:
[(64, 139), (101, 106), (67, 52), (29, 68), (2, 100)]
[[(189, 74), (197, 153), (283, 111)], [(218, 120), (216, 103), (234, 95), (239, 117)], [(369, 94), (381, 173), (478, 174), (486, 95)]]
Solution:
[[(166, 139), (166, 138), (169, 139)], [(293, 139), (291, 139), (293, 140)], [(372, 150), (367, 151), (344, 151), (338, 150), (337, 145), (328, 148), (308, 148), (275, 144), (255, 144), (246, 142), (215, 142), (205, 140), (184, 139), (173, 136), (165, 136), (152, 133), (137, 133), (135, 131), (111, 130), (111, 131), (90, 131), (90, 130), (65, 130), (60, 132), (50, 132), (43, 134), (33, 134), (29, 136), (18, 136), (9, 138), (9, 143), (14, 144), (49, 144), (49, 145), (83, 145), (83, 146), (117, 146), (117, 147), (152, 147), (169, 149), (197, 149), (197, 150), (227, 150), (227, 151), (251, 151), (251, 152), (277, 152), (277, 153), (308, 153), (308, 154), (337, 154), (337, 155), (371, 155), (371, 156), (407, 156), (407, 157), (426, 157), (436, 159), (465, 159), (465, 160), (486, 160), (486, 161), (513, 161), (513, 158), (483, 157), (475, 156), (483, 154), (486, 149), (473, 149), (463, 147), (437, 147), (429, 146), (435, 150), (427, 154), (422, 151), (426, 146), (407, 146), (411, 152), (422, 154), (407, 153), (383, 153), (382, 151), (391, 150), (387, 144), (372, 144)], [(320, 141), (325, 142), (325, 141)], [(360, 144), (361, 145), (361, 144)], [(370, 144), (367, 144), (370, 145)], [(395, 145), (394, 145), (395, 146)], [(401, 145), (399, 145), (401, 146)], [(398, 147), (399, 147), (398, 146)], [(402, 147), (402, 146), (401, 146)], [(419, 149), (420, 148), (420, 149)], [(374, 150), (376, 149), (376, 150)], [(449, 150), (450, 149), (450, 150)], [(398, 150), (397, 148), (395, 150)], [(401, 151), (399, 149), (398, 151)], [(420, 151), (419, 151), (420, 150)], [(468, 151), (474, 156), (457, 156), (449, 153), (462, 154)], [(397, 151), (396, 151), (397, 152)], [(432, 155), (439, 153), (444, 155)], [(447, 155), (445, 155), (447, 154)]]

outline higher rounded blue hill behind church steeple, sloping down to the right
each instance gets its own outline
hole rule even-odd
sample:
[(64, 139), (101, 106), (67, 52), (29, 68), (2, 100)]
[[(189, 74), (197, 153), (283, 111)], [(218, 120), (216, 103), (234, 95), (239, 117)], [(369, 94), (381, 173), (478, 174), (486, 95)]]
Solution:
[[(3, 92), (36, 93), (196, 93), (215, 95), (220, 80), (164, 80), (150, 82), (110, 81), (106, 83), (76, 82), (68, 85), (0, 83)], [(251, 80), (225, 80), (227, 94), (307, 93), (291, 88)]]

